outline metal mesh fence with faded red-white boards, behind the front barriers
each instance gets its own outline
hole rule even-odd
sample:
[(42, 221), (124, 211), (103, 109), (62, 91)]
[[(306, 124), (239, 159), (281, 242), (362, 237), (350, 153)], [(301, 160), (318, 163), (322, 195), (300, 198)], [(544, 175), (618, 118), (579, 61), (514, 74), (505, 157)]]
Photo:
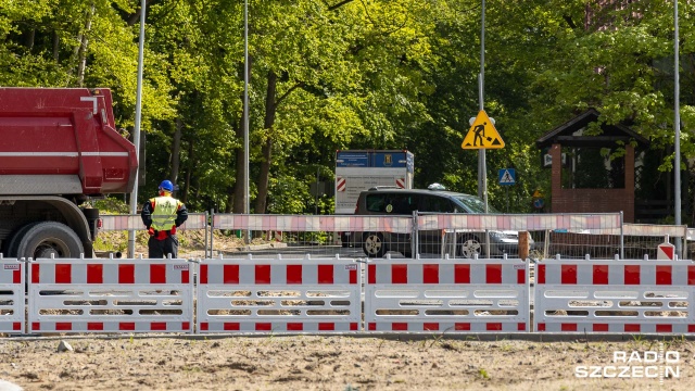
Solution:
[[(103, 230), (142, 229), (139, 216), (102, 216)], [(189, 224), (190, 223), (190, 224)], [(608, 214), (414, 214), (316, 216), (193, 214), (187, 229), (204, 229), (206, 256), (517, 257), (520, 231), (530, 234), (531, 258), (642, 260), (657, 257), (668, 240), (680, 258), (695, 230), (685, 226), (623, 224)], [(217, 238), (217, 239), (215, 239)], [(233, 238), (220, 241), (219, 238)]]

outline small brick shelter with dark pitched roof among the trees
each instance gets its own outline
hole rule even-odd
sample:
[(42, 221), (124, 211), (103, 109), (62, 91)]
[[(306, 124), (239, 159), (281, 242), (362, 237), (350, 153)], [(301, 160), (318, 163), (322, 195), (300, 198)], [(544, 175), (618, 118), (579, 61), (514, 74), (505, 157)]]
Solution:
[[(623, 212), (623, 220), (634, 223), (635, 147), (646, 148), (649, 141), (627, 126), (598, 124), (598, 116), (599, 113), (595, 109), (590, 109), (535, 141), (541, 150), (548, 149), (547, 153), (552, 157), (551, 212)], [(589, 130), (592, 123), (597, 123), (601, 130), (597, 131), (595, 127)], [(624, 147), (624, 155), (622, 162), (615, 164), (618, 167), (616, 172), (623, 171), (624, 174), (618, 178), (614, 175), (612, 180), (607, 180), (612, 186), (606, 188), (582, 187), (577, 186), (573, 180), (568, 181), (568, 178), (563, 177), (564, 175), (569, 177), (574, 175), (578, 166), (578, 151), (619, 147)], [(561, 159), (564, 151), (567, 151), (569, 155), (565, 159), (565, 163)], [(587, 160), (585, 159), (585, 161)], [(592, 175), (604, 175), (606, 166), (614, 163), (616, 163), (615, 160), (603, 163), (603, 167), (601, 164), (592, 167), (595, 168), (593, 173), (589, 171), (587, 174), (584, 174), (584, 178), (591, 178)]]

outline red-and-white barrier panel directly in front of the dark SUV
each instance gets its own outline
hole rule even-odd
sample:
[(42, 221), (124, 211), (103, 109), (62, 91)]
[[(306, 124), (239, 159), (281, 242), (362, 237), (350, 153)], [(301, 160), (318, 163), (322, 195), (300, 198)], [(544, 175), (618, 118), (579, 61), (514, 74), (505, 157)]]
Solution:
[(529, 331), (521, 260), (379, 260), (367, 265), (367, 331)]

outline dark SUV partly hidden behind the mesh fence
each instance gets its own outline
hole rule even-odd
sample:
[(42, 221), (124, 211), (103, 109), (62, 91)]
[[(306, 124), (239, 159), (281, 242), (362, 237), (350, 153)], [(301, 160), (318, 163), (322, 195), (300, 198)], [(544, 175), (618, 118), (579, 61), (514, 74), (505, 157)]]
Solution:
[[(420, 213), (484, 213), (483, 201), (470, 194), (445, 190), (397, 189), (376, 187), (362, 191), (357, 200), (355, 215), (410, 216), (414, 211)], [(500, 213), (488, 207), (489, 213)], [(455, 243), (455, 256), (472, 258), (475, 254), (485, 253), (485, 232), (457, 229), (448, 232)], [(410, 234), (394, 234), (380, 230), (353, 232), (352, 244), (362, 247), (367, 256), (383, 257), (389, 251), (397, 251), (412, 256)], [(519, 235), (517, 231), (488, 231), (490, 255), (509, 256), (518, 254)], [(440, 230), (419, 230), (420, 253), (439, 254), (442, 251), (443, 232)], [(454, 254), (452, 254), (454, 256)]]

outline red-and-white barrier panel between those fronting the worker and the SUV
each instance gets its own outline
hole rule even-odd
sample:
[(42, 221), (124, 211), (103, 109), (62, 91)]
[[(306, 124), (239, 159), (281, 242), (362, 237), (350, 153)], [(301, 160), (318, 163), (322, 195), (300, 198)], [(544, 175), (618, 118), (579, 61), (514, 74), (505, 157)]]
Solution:
[(198, 332), (358, 331), (361, 264), (352, 260), (204, 260)]

